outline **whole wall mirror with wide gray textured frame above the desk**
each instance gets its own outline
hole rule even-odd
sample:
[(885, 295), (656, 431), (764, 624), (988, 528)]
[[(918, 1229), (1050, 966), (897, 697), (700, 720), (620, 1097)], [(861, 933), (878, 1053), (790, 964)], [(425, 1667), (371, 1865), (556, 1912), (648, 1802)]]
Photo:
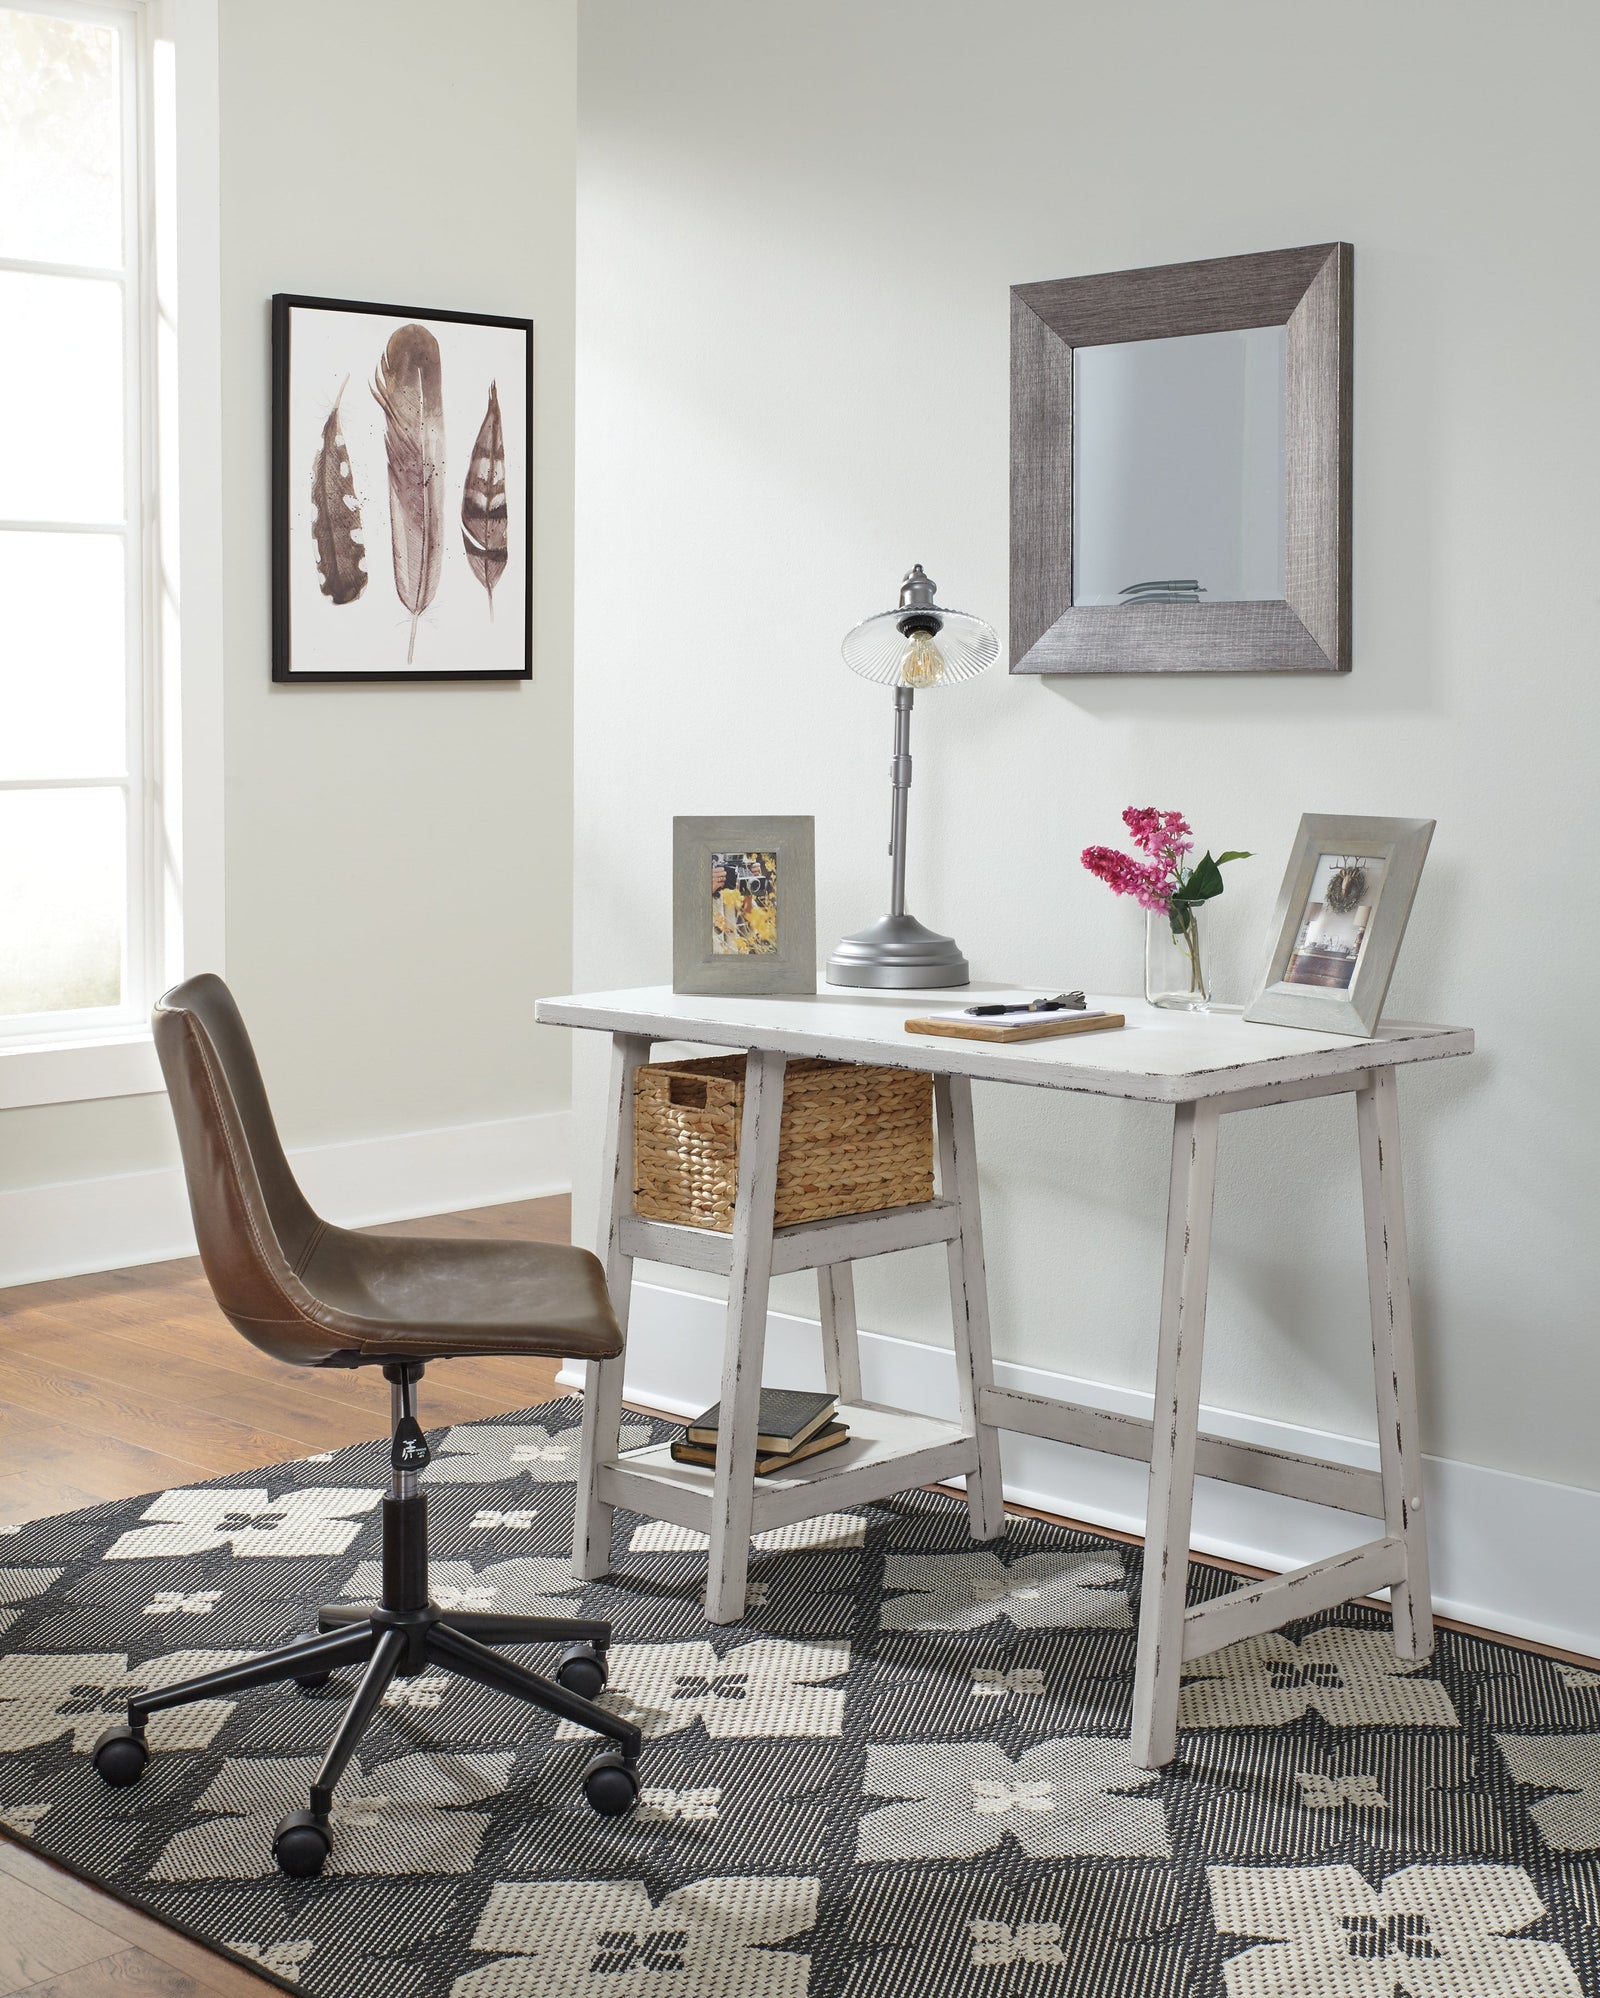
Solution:
[(1013, 288), (1013, 673), (1348, 671), (1350, 266)]

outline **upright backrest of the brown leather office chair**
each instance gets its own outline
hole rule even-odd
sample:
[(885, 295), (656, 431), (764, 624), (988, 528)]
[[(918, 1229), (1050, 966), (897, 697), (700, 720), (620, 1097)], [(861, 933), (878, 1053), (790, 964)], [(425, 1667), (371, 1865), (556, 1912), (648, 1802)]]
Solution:
[(234, 995), (206, 971), (156, 1001), (200, 1261), (232, 1323), (278, 1359), (328, 1349), (296, 1279), (322, 1223), (296, 1185)]

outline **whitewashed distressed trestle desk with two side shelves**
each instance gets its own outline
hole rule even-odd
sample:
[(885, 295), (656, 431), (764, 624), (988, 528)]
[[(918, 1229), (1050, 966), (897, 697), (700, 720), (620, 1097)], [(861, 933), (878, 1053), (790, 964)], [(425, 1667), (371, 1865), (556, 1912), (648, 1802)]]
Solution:
[[(611, 1512), (619, 1504), (697, 1526), (711, 1538), (707, 1614), (713, 1622), (731, 1622), (745, 1606), (751, 1532), (951, 1477), (967, 1479), (975, 1534), (993, 1538), (1003, 1530), (997, 1433), (1013, 1429), (1151, 1463), (1133, 1710), (1133, 1752), (1143, 1768), (1159, 1768), (1173, 1758), (1185, 1660), (1276, 1630), (1294, 1616), (1386, 1586), (1398, 1654), (1426, 1658), (1432, 1650), (1432, 1604), (1394, 1073), (1412, 1061), (1472, 1053), (1470, 1029), (1384, 1025), (1374, 1039), (1360, 1041), (1256, 1027), (1230, 1011), (1163, 1013), (1141, 999), (1091, 997), (1091, 1007), (1127, 1013), (1127, 1029), (1009, 1047), (905, 1033), (905, 1019), (917, 1013), (989, 997), (1017, 995), (1011, 989), (991, 993), (969, 987), (961, 993), (823, 991), (809, 999), (695, 999), (667, 987), (645, 987), (539, 1003), (541, 1021), (591, 1027), (609, 1033), (613, 1043), (601, 1259), (617, 1319), (627, 1327), (635, 1257), (729, 1277), (723, 1449), (715, 1473), (673, 1465), (661, 1447), (619, 1455), (623, 1361), (589, 1363), (573, 1544), (577, 1572), (607, 1572)], [(649, 1059), (653, 1041), (747, 1049), (731, 1237), (669, 1229), (633, 1215), (633, 1071)], [(935, 1077), (939, 1201), (889, 1215), (773, 1229), (783, 1065), (799, 1055), (889, 1063)], [(1173, 1165), (1155, 1423), (995, 1387), (977, 1213), (973, 1081), (1171, 1107)], [(1230, 1111), (1340, 1093), (1356, 1099), (1378, 1471), (1199, 1435), (1218, 1123)], [(951, 1257), (955, 1363), (963, 1391), (963, 1421), (957, 1425), (863, 1403), (855, 1363), (849, 1265), (863, 1255), (935, 1241), (947, 1243)], [(827, 1377), (845, 1405), (851, 1441), (815, 1465), (783, 1479), (763, 1479), (753, 1489), (769, 1279), (775, 1271), (811, 1267), (819, 1271)], [(1366, 1514), (1382, 1520), (1382, 1534), (1292, 1574), (1189, 1608), (1185, 1582), (1197, 1473)]]

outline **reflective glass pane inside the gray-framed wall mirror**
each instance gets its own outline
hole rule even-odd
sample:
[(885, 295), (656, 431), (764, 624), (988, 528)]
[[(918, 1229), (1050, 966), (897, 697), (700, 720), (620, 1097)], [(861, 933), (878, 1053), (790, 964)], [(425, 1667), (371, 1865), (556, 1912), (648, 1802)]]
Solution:
[(1284, 593), (1288, 328), (1073, 350), (1073, 601)]

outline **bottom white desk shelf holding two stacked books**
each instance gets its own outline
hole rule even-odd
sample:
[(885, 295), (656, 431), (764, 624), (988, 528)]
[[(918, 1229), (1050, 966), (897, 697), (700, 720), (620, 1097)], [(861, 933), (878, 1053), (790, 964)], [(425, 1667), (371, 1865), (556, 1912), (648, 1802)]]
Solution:
[[(753, 1530), (789, 1526), (843, 1504), (889, 1498), (913, 1485), (933, 1485), (977, 1469), (977, 1439), (959, 1423), (939, 1423), (905, 1409), (877, 1403), (847, 1403), (839, 1421), (849, 1425), (849, 1443), (821, 1457), (809, 1457), (793, 1471), (755, 1481)], [(711, 1530), (711, 1491), (715, 1471), (705, 1465), (673, 1463), (665, 1443), (627, 1451), (599, 1471), (599, 1495), (607, 1504), (669, 1518), (679, 1526)]]

